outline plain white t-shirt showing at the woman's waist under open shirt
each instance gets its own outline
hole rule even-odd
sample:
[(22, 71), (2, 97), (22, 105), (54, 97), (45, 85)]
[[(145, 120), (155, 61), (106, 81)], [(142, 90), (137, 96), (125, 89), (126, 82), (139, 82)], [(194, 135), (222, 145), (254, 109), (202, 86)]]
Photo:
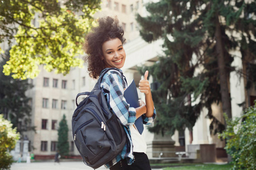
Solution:
[(133, 151), (134, 152), (144, 152), (147, 151), (147, 143), (144, 137), (139, 133), (133, 125), (130, 126), (131, 131), (131, 141), (133, 141)]

